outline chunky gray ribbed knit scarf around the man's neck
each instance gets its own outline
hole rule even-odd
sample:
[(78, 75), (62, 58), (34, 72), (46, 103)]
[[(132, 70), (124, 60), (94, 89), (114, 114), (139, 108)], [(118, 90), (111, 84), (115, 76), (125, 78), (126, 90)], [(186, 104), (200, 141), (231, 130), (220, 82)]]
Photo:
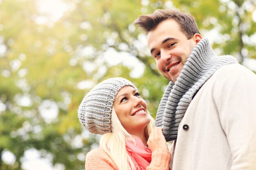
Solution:
[(225, 55), (218, 57), (207, 38), (196, 44), (175, 84), (169, 82), (157, 110), (155, 126), (163, 127), (166, 141), (177, 139), (178, 126), (195, 93), (218, 68), (237, 60)]

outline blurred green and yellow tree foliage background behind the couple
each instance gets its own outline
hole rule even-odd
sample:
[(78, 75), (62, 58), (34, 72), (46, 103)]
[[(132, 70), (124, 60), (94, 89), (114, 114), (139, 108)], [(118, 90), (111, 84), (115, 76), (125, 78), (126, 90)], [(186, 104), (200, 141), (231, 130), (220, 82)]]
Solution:
[(168, 82), (132, 22), (165, 8), (256, 71), (254, 0), (0, 0), (0, 170), (83, 170), (99, 136), (77, 109), (103, 79), (130, 79), (155, 117)]

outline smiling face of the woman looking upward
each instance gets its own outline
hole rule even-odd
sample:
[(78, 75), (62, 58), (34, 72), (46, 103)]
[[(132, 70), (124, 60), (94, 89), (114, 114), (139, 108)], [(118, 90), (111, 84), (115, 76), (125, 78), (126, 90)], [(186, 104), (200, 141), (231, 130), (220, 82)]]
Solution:
[(135, 135), (139, 130), (144, 130), (150, 123), (145, 100), (131, 86), (124, 86), (119, 90), (113, 106), (122, 126), (131, 135)]

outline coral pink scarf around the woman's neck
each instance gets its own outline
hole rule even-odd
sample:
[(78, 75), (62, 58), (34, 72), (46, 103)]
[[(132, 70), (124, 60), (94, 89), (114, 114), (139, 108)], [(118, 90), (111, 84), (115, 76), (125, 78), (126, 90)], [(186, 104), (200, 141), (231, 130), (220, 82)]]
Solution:
[(151, 162), (151, 150), (147, 149), (146, 146), (144, 146), (143, 142), (139, 137), (136, 137), (132, 135), (132, 137), (135, 139), (135, 144), (133, 144), (130, 141), (126, 141), (126, 150), (130, 154), (132, 161), (135, 164), (139, 165), (139, 167), (146, 168), (149, 166)]

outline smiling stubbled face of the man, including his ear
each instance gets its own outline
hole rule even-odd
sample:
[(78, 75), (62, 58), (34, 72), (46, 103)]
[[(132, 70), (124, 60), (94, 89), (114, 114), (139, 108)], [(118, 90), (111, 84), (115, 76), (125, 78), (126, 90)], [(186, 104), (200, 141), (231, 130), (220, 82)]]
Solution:
[(147, 36), (157, 68), (172, 82), (176, 82), (191, 51), (201, 39), (200, 34), (195, 34), (188, 40), (181, 32), (180, 25), (173, 19), (160, 22)]

